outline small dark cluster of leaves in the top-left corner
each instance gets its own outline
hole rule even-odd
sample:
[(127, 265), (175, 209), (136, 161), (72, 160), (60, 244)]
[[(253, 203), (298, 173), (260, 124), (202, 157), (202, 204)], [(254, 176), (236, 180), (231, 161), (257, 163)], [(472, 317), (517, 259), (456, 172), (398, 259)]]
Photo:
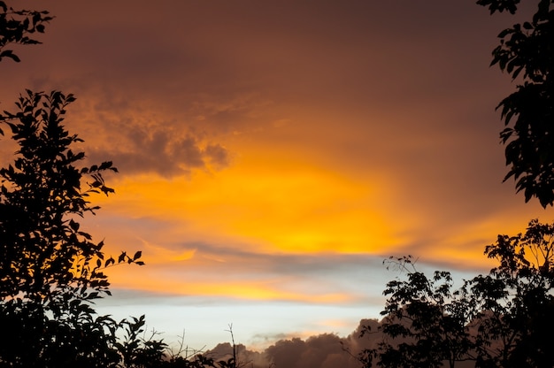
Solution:
[(46, 11), (36, 12), (27, 10), (14, 10), (8, 7), (4, 1), (0, 1), (0, 60), (12, 58), (19, 62), (19, 57), (13, 50), (4, 50), (9, 44), (36, 44), (41, 43), (31, 38), (31, 34), (43, 33), (45, 23), (53, 17)]

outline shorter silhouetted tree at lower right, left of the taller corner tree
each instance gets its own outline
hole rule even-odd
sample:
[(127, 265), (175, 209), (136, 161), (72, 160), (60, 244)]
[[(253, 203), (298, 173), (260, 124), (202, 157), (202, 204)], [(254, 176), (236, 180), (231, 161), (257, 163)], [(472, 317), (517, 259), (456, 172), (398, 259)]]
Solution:
[[(427, 278), (418, 272), (412, 257), (389, 258), (406, 273), (407, 280), (392, 280), (383, 292), (389, 295), (376, 349), (362, 353), (361, 361), (381, 367), (442, 367), (471, 359), (473, 341), (468, 323), (473, 311), (465, 297), (452, 291), (450, 272), (435, 272)], [(362, 335), (371, 334), (367, 326)]]

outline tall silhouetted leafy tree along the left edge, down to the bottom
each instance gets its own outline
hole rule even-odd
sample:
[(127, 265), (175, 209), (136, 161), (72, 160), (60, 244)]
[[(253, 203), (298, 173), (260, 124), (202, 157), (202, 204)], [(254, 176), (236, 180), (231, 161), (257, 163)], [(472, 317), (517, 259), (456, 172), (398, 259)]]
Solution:
[(0, 169), (0, 326), (10, 331), (0, 343), (3, 364), (112, 366), (125, 357), (116, 331), (142, 327), (140, 319), (118, 324), (92, 308), (110, 295), (106, 267), (142, 261), (140, 251), (104, 258), (104, 242), (81, 229), (78, 219), (98, 209), (89, 196), (112, 193), (102, 175), (116, 169), (77, 167), (85, 155), (72, 147), (81, 139), (62, 125), (73, 101), (27, 90), (19, 111), (0, 116), (19, 145), (13, 164)]

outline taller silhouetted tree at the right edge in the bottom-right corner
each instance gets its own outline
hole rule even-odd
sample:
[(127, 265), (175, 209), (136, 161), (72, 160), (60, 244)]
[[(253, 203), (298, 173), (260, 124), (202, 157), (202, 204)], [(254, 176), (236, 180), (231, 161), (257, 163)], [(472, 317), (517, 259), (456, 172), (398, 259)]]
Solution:
[(499, 265), (466, 283), (481, 309), (476, 336), (481, 365), (551, 367), (544, 336), (554, 328), (554, 225), (529, 222), (526, 234), (499, 235), (485, 254)]

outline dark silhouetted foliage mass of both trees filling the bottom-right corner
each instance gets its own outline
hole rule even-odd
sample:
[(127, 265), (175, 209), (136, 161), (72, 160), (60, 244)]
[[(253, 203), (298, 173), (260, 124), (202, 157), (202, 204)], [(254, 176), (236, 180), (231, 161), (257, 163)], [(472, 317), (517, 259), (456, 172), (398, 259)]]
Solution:
[[(359, 359), (365, 367), (551, 367), (544, 339), (554, 329), (554, 224), (532, 220), (525, 234), (499, 235), (485, 254), (498, 261), (488, 275), (452, 290), (450, 272), (432, 278), (411, 257), (393, 258), (406, 280), (392, 280), (376, 349)], [(363, 334), (373, 334), (367, 327)]]

